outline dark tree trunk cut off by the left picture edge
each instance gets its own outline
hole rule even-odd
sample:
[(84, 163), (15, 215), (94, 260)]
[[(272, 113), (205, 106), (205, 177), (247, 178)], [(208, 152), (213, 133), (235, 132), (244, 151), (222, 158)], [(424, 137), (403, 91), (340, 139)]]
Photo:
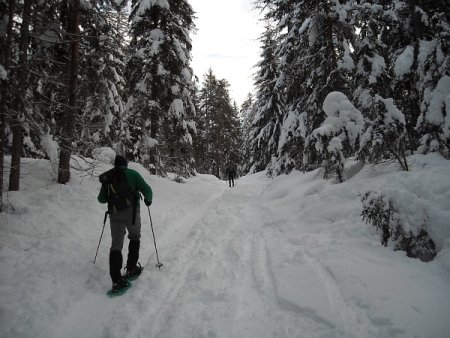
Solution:
[[(1, 32), (0, 35), (0, 63), (2, 63), (3, 68), (6, 72), (9, 69), (9, 52), (11, 50), (12, 43), (12, 27), (15, 12), (15, 0), (0, 1), (0, 21), (5, 20), (8, 16), (8, 23), (6, 25), (6, 30)], [(8, 79), (0, 80), (0, 212), (3, 211), (3, 168), (5, 165), (5, 148), (6, 148), (6, 115), (9, 110), (8, 107), (8, 95), (9, 86)]]

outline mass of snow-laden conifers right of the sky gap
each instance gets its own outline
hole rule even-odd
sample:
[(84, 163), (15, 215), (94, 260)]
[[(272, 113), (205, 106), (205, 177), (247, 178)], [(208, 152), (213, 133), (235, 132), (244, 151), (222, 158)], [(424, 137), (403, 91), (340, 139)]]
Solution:
[(450, 157), (446, 0), (256, 0), (264, 13), (256, 95), (244, 118), (244, 172), (345, 159)]

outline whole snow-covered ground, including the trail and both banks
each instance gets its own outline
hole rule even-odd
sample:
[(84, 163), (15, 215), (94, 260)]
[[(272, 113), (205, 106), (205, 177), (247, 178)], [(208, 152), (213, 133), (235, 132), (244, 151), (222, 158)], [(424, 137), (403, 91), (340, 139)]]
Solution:
[[(0, 337), (449, 337), (450, 161), (409, 162), (410, 172), (355, 164), (342, 184), (315, 171), (251, 175), (233, 189), (131, 163), (154, 191), (164, 266), (154, 267), (142, 207), (145, 270), (109, 299), (108, 224), (92, 263), (105, 211), (97, 178), (73, 170), (58, 185), (48, 161), (23, 159), (21, 191), (0, 214)], [(360, 216), (358, 194), (369, 189), (426, 209), (433, 261), (380, 244)]]

